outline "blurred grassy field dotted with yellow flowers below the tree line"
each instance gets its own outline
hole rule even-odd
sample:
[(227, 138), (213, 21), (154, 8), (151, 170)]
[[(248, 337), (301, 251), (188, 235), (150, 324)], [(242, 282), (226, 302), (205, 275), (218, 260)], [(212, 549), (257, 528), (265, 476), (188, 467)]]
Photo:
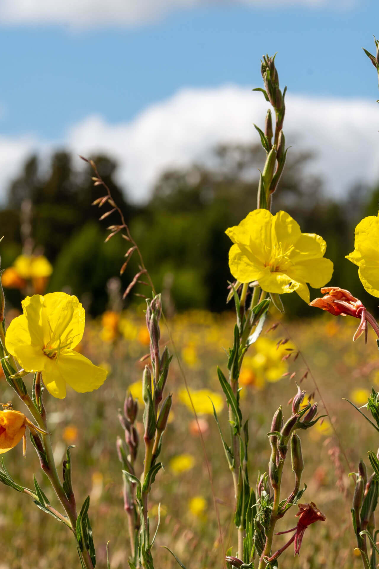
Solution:
[[(148, 352), (149, 343), (142, 310), (143, 306), (136, 312), (123, 312), (120, 318), (114, 313), (106, 313), (102, 320), (86, 325), (79, 349), (96, 364), (109, 369), (105, 385), (91, 394), (70, 390), (64, 401), (45, 397), (56, 459), (61, 462), (68, 444), (77, 446), (72, 451), (76, 496), (84, 501), (90, 494), (90, 519), (98, 567), (106, 567), (106, 543), (110, 541), (111, 569), (128, 567), (127, 520), (115, 440), (117, 435), (123, 435), (117, 412), (123, 405), (126, 390), (131, 386), (132, 393), (137, 396), (140, 391), (144, 366), (140, 358)], [(305, 460), (302, 480), (307, 484), (302, 501), (316, 502), (326, 514), (326, 522), (307, 529), (300, 558), (294, 559), (293, 549), (289, 549), (281, 556), (279, 566), (285, 569), (360, 567), (361, 560), (354, 552), (356, 543), (350, 513), (353, 481), (348, 473), (356, 471), (359, 459), (366, 459), (367, 451), (376, 450), (378, 443), (373, 429), (343, 398), (363, 405), (370, 387), (379, 384), (379, 358), (374, 337), (369, 333), (366, 346), (363, 338), (353, 344), (356, 322), (330, 315), (280, 323), (274, 331), (265, 333), (274, 321), (270, 318), (260, 344), (253, 345), (248, 352), (240, 377), (240, 383), (244, 385), (241, 406), (244, 416), (249, 417), (251, 483), (255, 483), (258, 471), (267, 469), (269, 444), (266, 433), (270, 429), (270, 418), (280, 404), (285, 416), (286, 411), (289, 415), (287, 403), (295, 394), (294, 382), (301, 380), (307, 366), (311, 373), (302, 380), (301, 387), (307, 390), (310, 398), (319, 401), (320, 414), (325, 413), (320, 396), (323, 398), (338, 434), (337, 437), (328, 418), (300, 434)], [(223, 348), (231, 344), (233, 325), (232, 314), (214, 315), (202, 311), (177, 315), (169, 322), (201, 419), (225, 549), (236, 546), (232, 480), (213, 415), (209, 413), (207, 392), (195, 392), (211, 392), (227, 435), (227, 411), (216, 377), (216, 365), (226, 369)], [(170, 351), (174, 352), (164, 327), (162, 330), (161, 344), (168, 343)], [(288, 343), (277, 350), (277, 341), (285, 337), (289, 338)], [(290, 348), (294, 348), (294, 352), (290, 352)], [(301, 352), (293, 361), (297, 348)], [(292, 355), (282, 361), (290, 353)], [(27, 384), (30, 381), (26, 378)], [(204, 450), (184, 387), (174, 357), (166, 387), (173, 393), (173, 406), (161, 456), (165, 472), (159, 473), (150, 502), (153, 529), (157, 522), (157, 506), (161, 504), (161, 526), (153, 553), (156, 567), (176, 566), (168, 551), (159, 547), (161, 545), (174, 550), (187, 569), (222, 567), (223, 551)], [(3, 402), (11, 397), (12, 392), (3, 380)], [(13, 405), (15, 409), (23, 410), (15, 398)], [(138, 426), (142, 434), (141, 411), (139, 413)], [(140, 461), (142, 459), (140, 456)], [(53, 503), (51, 490), (42, 477), (31, 444), (28, 444), (26, 459), (22, 457), (21, 447), (17, 446), (5, 455), (5, 463), (14, 479), (28, 487), (33, 484), (35, 472)], [(286, 464), (286, 468), (284, 488), (290, 492), (293, 488), (290, 464)], [(296, 510), (293, 508), (280, 522), (279, 530), (294, 525)], [(40, 512), (27, 496), (5, 486), (0, 488), (0, 531), (2, 543), (9, 544), (2, 550), (0, 569), (78, 566), (69, 531)], [(285, 538), (277, 537), (274, 543), (282, 545)]]

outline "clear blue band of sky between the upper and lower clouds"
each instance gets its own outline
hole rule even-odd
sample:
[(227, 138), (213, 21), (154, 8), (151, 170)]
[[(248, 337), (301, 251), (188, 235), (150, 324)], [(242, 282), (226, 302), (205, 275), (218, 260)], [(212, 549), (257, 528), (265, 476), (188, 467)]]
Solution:
[(126, 121), (182, 86), (259, 85), (260, 57), (273, 51), (289, 92), (377, 98), (361, 50), (372, 50), (375, 32), (374, 1), (345, 9), (198, 6), (107, 29), (3, 24), (2, 132), (58, 139), (89, 114)]

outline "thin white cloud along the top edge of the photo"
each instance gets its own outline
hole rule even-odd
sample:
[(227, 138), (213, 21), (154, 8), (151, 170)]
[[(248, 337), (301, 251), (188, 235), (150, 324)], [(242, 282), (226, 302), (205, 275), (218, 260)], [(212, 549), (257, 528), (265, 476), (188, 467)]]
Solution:
[(0, 22), (63, 24), (74, 28), (134, 26), (174, 10), (206, 4), (239, 3), (259, 7), (350, 7), (356, 0), (1, 0)]

